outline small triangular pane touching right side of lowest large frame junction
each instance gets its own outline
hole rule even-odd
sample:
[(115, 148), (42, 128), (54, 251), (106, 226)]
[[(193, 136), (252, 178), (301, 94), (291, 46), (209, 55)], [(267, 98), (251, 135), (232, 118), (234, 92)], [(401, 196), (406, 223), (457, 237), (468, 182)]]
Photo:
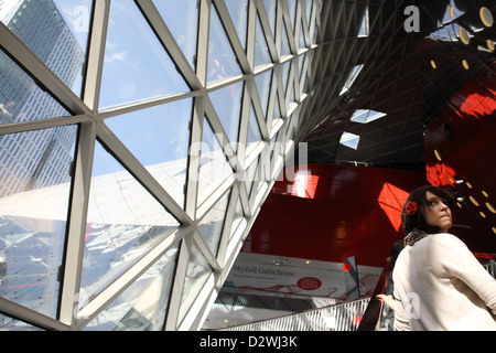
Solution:
[(229, 195), (230, 192), (226, 192), (198, 223), (198, 231), (215, 256), (217, 256), (218, 245), (220, 244)]

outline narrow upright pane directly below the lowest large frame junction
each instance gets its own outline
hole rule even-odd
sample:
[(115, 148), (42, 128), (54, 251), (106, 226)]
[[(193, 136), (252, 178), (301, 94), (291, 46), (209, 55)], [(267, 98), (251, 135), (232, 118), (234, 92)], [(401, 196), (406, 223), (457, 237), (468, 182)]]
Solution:
[(202, 290), (212, 272), (213, 269), (207, 259), (203, 256), (198, 247), (193, 244), (181, 296), (180, 321), (183, 320), (184, 315), (190, 310), (197, 293)]

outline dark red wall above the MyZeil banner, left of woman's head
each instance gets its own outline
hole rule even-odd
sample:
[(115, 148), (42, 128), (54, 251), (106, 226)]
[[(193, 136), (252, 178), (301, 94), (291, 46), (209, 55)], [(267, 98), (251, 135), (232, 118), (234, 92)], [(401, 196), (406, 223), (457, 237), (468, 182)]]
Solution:
[(292, 181), (278, 182), (242, 252), (322, 261), (356, 256), (358, 265), (382, 267), (392, 243), (405, 236), (402, 204), (427, 183), (425, 174), (335, 164), (308, 169), (306, 199), (291, 195), (299, 191)]

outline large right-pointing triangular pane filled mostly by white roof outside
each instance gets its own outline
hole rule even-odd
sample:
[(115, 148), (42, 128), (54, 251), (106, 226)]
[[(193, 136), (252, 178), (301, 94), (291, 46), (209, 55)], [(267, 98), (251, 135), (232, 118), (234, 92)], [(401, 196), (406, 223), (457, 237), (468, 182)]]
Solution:
[(82, 293), (96, 295), (180, 223), (96, 142)]

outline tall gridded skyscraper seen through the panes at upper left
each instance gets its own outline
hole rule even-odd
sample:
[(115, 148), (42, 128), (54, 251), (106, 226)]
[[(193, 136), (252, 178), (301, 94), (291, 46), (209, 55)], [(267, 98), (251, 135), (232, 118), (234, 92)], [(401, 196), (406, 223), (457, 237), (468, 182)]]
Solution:
[[(73, 87), (80, 77), (84, 52), (52, 0), (0, 1), (0, 20)], [(0, 124), (68, 115), (2, 52), (0, 109)], [(0, 197), (67, 182), (75, 133), (76, 128), (53, 128), (0, 136)]]

